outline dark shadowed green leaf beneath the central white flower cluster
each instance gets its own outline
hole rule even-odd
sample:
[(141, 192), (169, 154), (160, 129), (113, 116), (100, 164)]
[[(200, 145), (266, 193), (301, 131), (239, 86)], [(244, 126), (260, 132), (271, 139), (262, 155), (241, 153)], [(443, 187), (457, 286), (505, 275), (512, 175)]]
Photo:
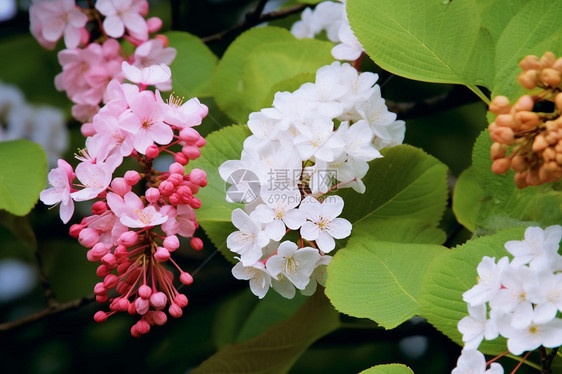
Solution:
[(297, 293), (286, 299), (269, 292), (258, 299), (246, 289), (223, 303), (215, 320), (214, 336), (218, 347), (255, 338), (269, 327), (291, 317), (307, 300)]

